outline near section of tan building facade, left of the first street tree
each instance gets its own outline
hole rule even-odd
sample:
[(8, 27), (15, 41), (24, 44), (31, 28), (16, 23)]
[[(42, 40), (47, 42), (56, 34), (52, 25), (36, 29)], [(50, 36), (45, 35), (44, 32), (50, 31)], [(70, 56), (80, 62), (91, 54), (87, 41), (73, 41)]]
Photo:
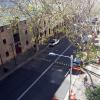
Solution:
[[(15, 23), (15, 22), (13, 22)], [(31, 48), (27, 21), (0, 26), (0, 65)]]

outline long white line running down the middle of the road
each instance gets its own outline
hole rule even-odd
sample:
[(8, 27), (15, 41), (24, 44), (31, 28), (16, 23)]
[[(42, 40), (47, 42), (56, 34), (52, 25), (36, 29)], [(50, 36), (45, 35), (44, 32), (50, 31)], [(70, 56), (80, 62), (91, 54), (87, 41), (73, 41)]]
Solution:
[[(61, 54), (63, 55), (70, 47), (72, 46), (69, 45)], [(60, 56), (58, 56), (54, 62), (52, 62), (47, 69), (45, 69), (45, 71), (17, 98), (17, 100), (21, 100), (22, 97), (41, 79), (41, 77), (53, 66), (53, 64), (55, 64), (55, 62), (57, 60), (59, 60)]]

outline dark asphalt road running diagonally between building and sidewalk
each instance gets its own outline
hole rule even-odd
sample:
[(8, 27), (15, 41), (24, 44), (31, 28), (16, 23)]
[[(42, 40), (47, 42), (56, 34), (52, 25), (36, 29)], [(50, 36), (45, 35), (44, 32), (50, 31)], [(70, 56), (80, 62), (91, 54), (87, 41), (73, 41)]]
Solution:
[(68, 71), (64, 64), (69, 65), (70, 60), (49, 56), (48, 53), (63, 53), (70, 56), (74, 49), (66, 38), (55, 47), (48, 47), (36, 58), (0, 81), (0, 100), (51, 100)]

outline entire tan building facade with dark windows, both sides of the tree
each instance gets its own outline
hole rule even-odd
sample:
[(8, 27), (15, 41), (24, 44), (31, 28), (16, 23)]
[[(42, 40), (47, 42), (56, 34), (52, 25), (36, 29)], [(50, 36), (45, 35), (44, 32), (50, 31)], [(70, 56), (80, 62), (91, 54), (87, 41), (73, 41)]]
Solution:
[[(56, 26), (56, 24), (52, 27), (49, 25), (48, 16), (44, 19), (39, 25), (39, 43), (43, 43), (48, 37), (54, 35)], [(30, 19), (22, 18), (0, 25), (0, 65), (33, 47), (37, 38), (32, 26), (30, 30), (30, 23), (32, 23)]]

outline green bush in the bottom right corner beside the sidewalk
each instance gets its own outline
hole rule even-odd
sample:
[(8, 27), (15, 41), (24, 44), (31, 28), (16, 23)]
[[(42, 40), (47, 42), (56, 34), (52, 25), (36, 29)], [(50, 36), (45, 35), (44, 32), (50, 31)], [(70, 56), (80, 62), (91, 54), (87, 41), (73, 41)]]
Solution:
[(85, 94), (87, 100), (100, 100), (100, 86), (95, 89), (87, 88)]

